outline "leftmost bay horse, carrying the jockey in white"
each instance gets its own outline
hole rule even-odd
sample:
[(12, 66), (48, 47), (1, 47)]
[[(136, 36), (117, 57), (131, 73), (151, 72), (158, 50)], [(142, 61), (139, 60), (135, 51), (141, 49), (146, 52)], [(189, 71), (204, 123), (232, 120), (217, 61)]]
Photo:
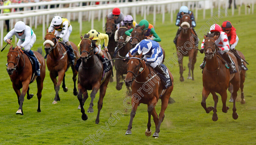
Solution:
[[(39, 51), (39, 50), (38, 50)], [(10, 76), (10, 79), (12, 81), (12, 87), (17, 94), (18, 97), (18, 103), (20, 105), (18, 111), (16, 114), (23, 115), (23, 101), (24, 96), (27, 93), (27, 99), (31, 99), (34, 95), (29, 94), (29, 84), (37, 80), (37, 99), (38, 99), (38, 108), (37, 112), (41, 112), (40, 109), (40, 100), (42, 97), (42, 89), (43, 89), (43, 82), (45, 77), (45, 62), (44, 58), (41, 55), (42, 50), (40, 50), (41, 53), (33, 51), (34, 54), (37, 56), (38, 61), (41, 63), (40, 66), (40, 76), (35, 76), (33, 80), (33, 70), (31, 62), (27, 55), (23, 54), (23, 51), (21, 49), (18, 49), (18, 46), (15, 48), (12, 47), (12, 45), (9, 48), (9, 52), (7, 54), (7, 72)], [(20, 93), (20, 89), (22, 88), (22, 91)]]

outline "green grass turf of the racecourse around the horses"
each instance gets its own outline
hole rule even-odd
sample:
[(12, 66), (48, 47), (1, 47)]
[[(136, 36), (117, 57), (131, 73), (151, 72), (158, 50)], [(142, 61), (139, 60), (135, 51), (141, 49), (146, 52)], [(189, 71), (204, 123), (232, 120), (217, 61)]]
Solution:
[[(223, 9), (223, 8), (221, 8)], [(176, 103), (169, 105), (165, 111), (165, 119), (161, 125), (159, 138), (146, 137), (144, 132), (147, 128), (147, 106), (141, 104), (136, 112), (133, 120), (132, 135), (125, 136), (125, 132), (130, 120), (130, 109), (126, 109), (123, 105), (123, 100), (126, 98), (126, 87), (117, 91), (116, 82), (108, 84), (107, 92), (103, 100), (103, 107), (100, 114), (100, 123), (95, 124), (97, 116), (97, 101), (98, 93), (94, 101), (94, 113), (87, 113), (88, 120), (81, 119), (81, 112), (77, 110), (79, 101), (73, 95), (72, 72), (69, 69), (66, 72), (66, 86), (69, 91), (64, 93), (62, 89), (59, 91), (60, 99), (57, 104), (53, 105), (52, 101), (55, 96), (53, 83), (49, 77), (49, 71), (46, 70), (44, 79), (44, 89), (41, 98), (41, 113), (37, 113), (37, 97), (36, 95), (23, 103), (23, 116), (16, 115), (18, 110), (17, 97), (12, 89), (12, 83), (6, 72), (6, 55), (8, 48), (0, 53), (0, 144), (86, 144), (92, 141), (94, 144), (255, 144), (256, 142), (256, 124), (255, 110), (256, 103), (254, 101), (255, 89), (255, 64), (254, 64), (254, 48), (255, 44), (255, 14), (244, 15), (244, 6), (241, 7), (241, 15), (237, 15), (238, 10), (235, 10), (235, 15), (231, 16), (231, 10), (228, 10), (229, 16), (219, 18), (219, 25), (223, 21), (229, 20), (236, 28), (236, 33), (239, 36), (239, 42), (236, 47), (244, 53), (248, 65), (247, 77), (244, 83), (244, 96), (246, 103), (240, 104), (240, 90), (236, 102), (237, 120), (232, 118), (233, 103), (227, 102), (230, 107), (227, 113), (222, 113), (222, 102), (219, 99), (217, 105), (217, 114), (219, 120), (212, 121), (212, 112), (205, 113), (201, 106), (202, 92), (202, 74), (199, 65), (202, 62), (203, 55), (198, 53), (197, 62), (195, 64), (194, 77), (195, 80), (187, 78), (187, 63), (188, 58), (183, 59), (183, 65), (186, 66), (184, 71), (184, 82), (180, 82), (179, 65), (172, 62), (173, 67), (169, 67), (174, 76), (174, 89), (171, 97)], [(198, 11), (197, 26), (198, 30), (202, 25), (207, 25), (206, 22), (210, 17), (210, 10), (206, 10), (206, 19), (201, 19), (202, 10)], [(213, 11), (217, 12), (216, 9)], [(255, 13), (255, 11), (254, 11)], [(222, 13), (223, 14), (223, 13)], [(174, 18), (175, 18), (174, 14)], [(174, 23), (170, 23), (170, 15), (165, 15), (165, 23), (162, 24), (162, 15), (156, 15), (155, 30), (161, 37), (161, 45), (165, 49), (165, 58), (173, 58), (176, 52), (172, 42), (178, 29)], [(137, 15), (137, 23), (141, 20), (141, 16)], [(147, 19), (153, 23), (153, 15), (148, 15)], [(94, 28), (99, 32), (102, 31), (102, 22), (94, 21)], [(73, 32), (69, 38), (70, 41), (78, 44), (80, 41), (79, 24), (71, 22)], [(83, 22), (83, 34), (91, 28), (90, 22)], [(33, 50), (43, 45), (42, 26), (34, 29), (37, 35), (37, 41), (34, 44)], [(6, 32), (5, 34), (6, 35)], [(201, 33), (202, 35), (202, 33)], [(200, 38), (202, 40), (202, 38)], [(44, 49), (44, 47), (43, 47)], [(36, 94), (36, 83), (30, 84), (30, 93)], [(90, 93), (91, 91), (89, 91)], [(228, 92), (228, 98), (230, 93)], [(130, 98), (126, 101), (130, 102)], [(214, 102), (212, 95), (209, 95), (206, 100), (207, 106), (213, 106)], [(90, 99), (85, 102), (85, 110), (89, 107)], [(157, 113), (160, 112), (161, 100), (156, 106)], [(120, 120), (117, 120), (115, 125), (110, 125), (108, 119), (115, 117), (113, 114), (120, 111), (124, 116), (118, 115)], [(101, 126), (106, 127), (107, 122), (109, 130), (104, 130)], [(155, 124), (151, 119), (152, 132), (155, 132)], [(103, 130), (104, 136), (95, 137), (94, 141), (90, 135), (96, 134), (97, 130)], [(101, 135), (103, 135), (101, 133)]]

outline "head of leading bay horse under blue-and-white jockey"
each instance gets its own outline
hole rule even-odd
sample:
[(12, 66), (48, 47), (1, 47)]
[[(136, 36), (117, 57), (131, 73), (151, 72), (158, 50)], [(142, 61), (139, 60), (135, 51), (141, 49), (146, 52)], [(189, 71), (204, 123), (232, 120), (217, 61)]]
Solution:
[[(142, 53), (138, 56), (132, 56), (132, 54), (129, 52), (130, 60), (127, 62), (127, 74), (124, 79), (126, 86), (131, 86), (133, 83), (133, 80), (136, 79), (138, 75), (142, 72), (142, 60), (140, 59), (142, 56)], [(130, 73), (128, 73), (130, 72)]]

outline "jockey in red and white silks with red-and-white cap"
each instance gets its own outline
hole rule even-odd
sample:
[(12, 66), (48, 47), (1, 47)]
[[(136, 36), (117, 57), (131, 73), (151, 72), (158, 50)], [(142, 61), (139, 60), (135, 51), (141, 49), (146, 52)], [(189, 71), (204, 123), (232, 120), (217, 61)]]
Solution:
[[(221, 31), (221, 27), (218, 24), (213, 24), (211, 26), (210, 33), (218, 36), (217, 39), (215, 40), (215, 44), (219, 47), (218, 52), (222, 54), (224, 59), (229, 63), (230, 71), (236, 72), (236, 67), (234, 65), (234, 62), (232, 61), (232, 59), (229, 57), (227, 53), (229, 51), (229, 40), (228, 40), (227, 34)], [(201, 44), (200, 52), (204, 53), (204, 40)], [(204, 68), (204, 64), (205, 64), (205, 57), (204, 57), (204, 61), (200, 65), (201, 69)]]

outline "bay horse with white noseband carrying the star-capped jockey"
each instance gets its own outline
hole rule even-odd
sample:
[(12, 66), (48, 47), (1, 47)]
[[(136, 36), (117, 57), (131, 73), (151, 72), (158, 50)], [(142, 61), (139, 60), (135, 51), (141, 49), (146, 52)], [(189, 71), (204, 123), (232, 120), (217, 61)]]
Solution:
[[(55, 89), (55, 97), (52, 103), (56, 104), (57, 101), (60, 100), (59, 87), (62, 81), (63, 81), (62, 83), (63, 91), (64, 92), (68, 91), (68, 88), (66, 87), (66, 84), (65, 84), (65, 72), (69, 69), (70, 66), (73, 72), (73, 77), (72, 77), (74, 82), (73, 94), (76, 96), (78, 93), (76, 89), (77, 71), (75, 69), (75, 65), (76, 65), (76, 60), (79, 58), (80, 55), (78, 53), (77, 46), (73, 42), (70, 42), (76, 56), (75, 64), (71, 65), (71, 63), (69, 63), (69, 58), (67, 56), (68, 54), (64, 44), (59, 43), (58, 39), (54, 35), (55, 30), (53, 32), (48, 32), (48, 29), (47, 29), (46, 32), (47, 33), (44, 37), (44, 50), (46, 54), (48, 54), (46, 64), (50, 72), (50, 78), (52, 79), (54, 89)], [(58, 81), (57, 81), (57, 76), (58, 76)]]

